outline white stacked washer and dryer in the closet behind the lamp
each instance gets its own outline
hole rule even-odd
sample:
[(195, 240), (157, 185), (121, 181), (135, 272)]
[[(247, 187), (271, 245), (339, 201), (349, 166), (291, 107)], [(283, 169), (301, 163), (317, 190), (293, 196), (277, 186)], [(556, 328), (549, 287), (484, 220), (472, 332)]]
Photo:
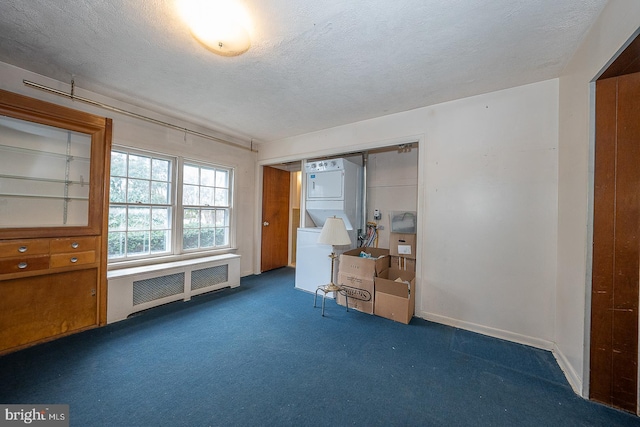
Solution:
[[(329, 254), (358, 247), (358, 231), (362, 228), (362, 180), (362, 166), (344, 158), (305, 164), (304, 209), (313, 224), (298, 228), (296, 288), (315, 292), (318, 286), (326, 285), (331, 281)], [(351, 238), (350, 246), (332, 248), (318, 243), (325, 220), (334, 215), (344, 221)]]

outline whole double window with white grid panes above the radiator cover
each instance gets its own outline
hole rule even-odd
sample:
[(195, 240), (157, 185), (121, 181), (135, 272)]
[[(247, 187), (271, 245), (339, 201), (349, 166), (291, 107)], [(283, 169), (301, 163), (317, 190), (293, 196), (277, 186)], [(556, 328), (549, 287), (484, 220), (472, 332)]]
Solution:
[(114, 149), (109, 260), (229, 247), (232, 178), (231, 168)]

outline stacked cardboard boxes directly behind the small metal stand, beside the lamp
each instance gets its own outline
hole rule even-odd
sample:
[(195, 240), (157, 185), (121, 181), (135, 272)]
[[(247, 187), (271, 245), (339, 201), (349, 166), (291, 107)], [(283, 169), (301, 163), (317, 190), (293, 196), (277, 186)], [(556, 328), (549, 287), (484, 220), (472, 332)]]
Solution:
[[(363, 258), (361, 252), (371, 255)], [(343, 286), (347, 295), (338, 293), (340, 305), (355, 308), (364, 313), (373, 314), (375, 288), (374, 279), (389, 268), (389, 250), (380, 248), (357, 248), (340, 255), (338, 284)]]

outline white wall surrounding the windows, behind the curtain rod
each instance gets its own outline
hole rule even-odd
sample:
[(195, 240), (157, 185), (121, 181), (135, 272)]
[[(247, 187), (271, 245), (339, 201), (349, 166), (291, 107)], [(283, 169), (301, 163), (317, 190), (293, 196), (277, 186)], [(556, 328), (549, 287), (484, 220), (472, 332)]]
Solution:
[[(253, 273), (253, 247), (255, 246), (253, 221), (255, 217), (255, 153), (215, 141), (186, 135), (184, 132), (153, 124), (126, 115), (118, 114), (99, 107), (94, 107), (68, 98), (53, 95), (27, 87), (23, 80), (30, 80), (45, 86), (53, 87), (68, 93), (69, 85), (58, 82), (29, 71), (0, 62), (0, 88), (32, 98), (38, 98), (54, 104), (87, 111), (113, 119), (113, 144), (152, 150), (174, 156), (183, 156), (207, 162), (219, 163), (235, 168), (235, 214), (237, 221), (236, 246), (242, 256), (240, 272), (242, 275)], [(79, 82), (76, 82), (80, 86)], [(204, 129), (194, 124), (160, 115), (149, 110), (134, 107), (99, 94), (83, 91), (76, 87), (77, 96), (96, 100), (123, 110), (153, 117), (181, 127), (186, 127), (204, 134), (222, 136), (215, 131)], [(229, 139), (229, 138), (225, 138)]]

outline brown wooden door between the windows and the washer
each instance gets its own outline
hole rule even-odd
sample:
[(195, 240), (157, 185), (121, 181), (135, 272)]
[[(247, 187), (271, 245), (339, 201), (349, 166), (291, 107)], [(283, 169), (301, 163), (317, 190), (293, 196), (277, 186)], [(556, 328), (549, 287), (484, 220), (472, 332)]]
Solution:
[(262, 258), (260, 271), (288, 264), (290, 173), (265, 166), (262, 175)]

